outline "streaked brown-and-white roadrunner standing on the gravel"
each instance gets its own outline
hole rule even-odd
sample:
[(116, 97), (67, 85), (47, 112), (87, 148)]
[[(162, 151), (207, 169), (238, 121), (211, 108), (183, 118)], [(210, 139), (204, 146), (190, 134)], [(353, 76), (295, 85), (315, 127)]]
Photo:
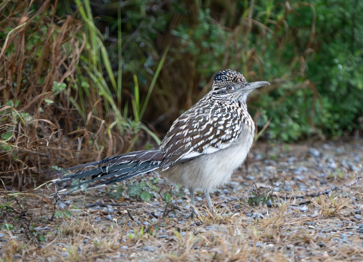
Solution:
[[(218, 72), (212, 90), (172, 124), (158, 149), (108, 157), (66, 170), (78, 172), (52, 180), (59, 184), (88, 179), (77, 185), (105, 186), (136, 175), (159, 171), (170, 182), (189, 188), (194, 209), (193, 189), (201, 188), (212, 209), (209, 190), (225, 184), (245, 160), (253, 142), (254, 123), (246, 100), (255, 88), (268, 82), (247, 83), (232, 70)], [(92, 169), (87, 169), (93, 167)]]

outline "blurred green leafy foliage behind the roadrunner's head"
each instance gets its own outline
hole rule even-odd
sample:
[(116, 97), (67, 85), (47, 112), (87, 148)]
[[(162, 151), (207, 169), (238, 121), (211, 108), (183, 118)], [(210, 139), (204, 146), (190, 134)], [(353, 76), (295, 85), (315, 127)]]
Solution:
[[(112, 2), (112, 1), (111, 1)], [(327, 6), (330, 6), (327, 8)], [(96, 24), (117, 29), (103, 5)], [(108, 9), (107, 9), (108, 8)], [(102, 11), (98, 11), (102, 13)], [(171, 44), (166, 66), (144, 117), (167, 112), (167, 130), (200, 99), (215, 72), (231, 68), (249, 81), (272, 83), (251, 98), (251, 113), (271, 117), (270, 139), (339, 137), (362, 129), (363, 11), (360, 1), (125, 1), (121, 6), (123, 88), (134, 93), (131, 74), (147, 87), (160, 55)], [(110, 57), (116, 45), (110, 44)], [(140, 90), (145, 96), (147, 88)]]

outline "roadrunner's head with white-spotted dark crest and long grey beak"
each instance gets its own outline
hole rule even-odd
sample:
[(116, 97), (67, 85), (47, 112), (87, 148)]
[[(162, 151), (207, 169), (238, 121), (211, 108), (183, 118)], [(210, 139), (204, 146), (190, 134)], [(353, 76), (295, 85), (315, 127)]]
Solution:
[(242, 74), (227, 69), (215, 75), (211, 93), (220, 98), (246, 103), (252, 90), (269, 84), (266, 81), (248, 83)]

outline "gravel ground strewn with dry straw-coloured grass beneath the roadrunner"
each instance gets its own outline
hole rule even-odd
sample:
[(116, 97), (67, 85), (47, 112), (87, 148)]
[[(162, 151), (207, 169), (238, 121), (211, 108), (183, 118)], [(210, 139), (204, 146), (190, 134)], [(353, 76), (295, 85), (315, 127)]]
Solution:
[[(203, 194), (196, 191), (196, 206), (203, 214), (198, 218), (191, 218), (186, 189), (180, 189), (180, 197), (171, 194), (166, 205), (162, 195), (171, 190), (162, 180), (156, 185), (160, 192), (148, 203), (111, 199), (103, 191), (67, 196), (57, 203), (64, 216), (52, 221), (51, 204), (18, 197), (19, 205), (13, 201), (13, 211), (3, 212), (3, 222), (14, 228), (1, 229), (2, 257), (362, 261), (362, 159), (360, 140), (314, 145), (258, 142), (247, 165), (231, 182), (211, 192), (217, 213), (207, 214)], [(3, 195), (2, 200), (6, 198)], [(20, 251), (9, 251), (13, 240)]]

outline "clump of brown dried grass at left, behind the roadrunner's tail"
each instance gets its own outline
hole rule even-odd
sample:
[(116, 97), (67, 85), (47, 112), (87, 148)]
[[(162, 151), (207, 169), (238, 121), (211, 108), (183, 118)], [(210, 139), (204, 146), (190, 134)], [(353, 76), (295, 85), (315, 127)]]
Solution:
[[(36, 12), (29, 11), (32, 4)], [(8, 188), (32, 188), (50, 167), (94, 159), (99, 152), (93, 145), (99, 138), (109, 141), (105, 120), (97, 117), (105, 115), (99, 96), (90, 89), (83, 103), (77, 86), (76, 65), (87, 45), (83, 24), (72, 16), (56, 17), (56, 4), (0, 5), (0, 33), (6, 36), (0, 50), (0, 178)], [(85, 108), (94, 111), (86, 115)]]

